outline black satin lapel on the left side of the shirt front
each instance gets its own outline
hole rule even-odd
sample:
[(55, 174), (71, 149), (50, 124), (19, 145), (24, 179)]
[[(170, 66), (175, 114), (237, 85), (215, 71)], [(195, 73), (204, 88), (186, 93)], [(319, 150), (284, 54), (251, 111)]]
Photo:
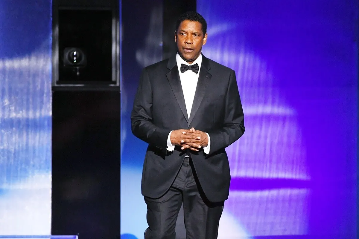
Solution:
[[(182, 110), (183, 116), (188, 122), (188, 114), (186, 109), (185, 97), (183, 96), (183, 90), (180, 80), (180, 74), (178, 73), (177, 65), (172, 68), (170, 72), (166, 74), (169, 85), (171, 85), (174, 96), (177, 99), (178, 105)], [(166, 99), (164, 99), (166, 100)]]

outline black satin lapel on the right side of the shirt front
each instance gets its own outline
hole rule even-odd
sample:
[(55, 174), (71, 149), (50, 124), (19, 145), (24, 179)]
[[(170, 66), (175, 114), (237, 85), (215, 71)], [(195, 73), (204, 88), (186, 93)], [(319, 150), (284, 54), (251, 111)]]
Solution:
[(208, 59), (202, 55), (202, 66), (199, 72), (200, 75), (198, 76), (196, 93), (193, 99), (190, 119), (188, 120), (188, 128), (190, 127), (190, 124), (192, 123), (192, 120), (195, 117), (198, 108), (200, 107), (200, 104), (206, 93), (208, 82), (212, 77), (212, 75), (208, 72), (209, 69), (210, 67), (209, 67)]

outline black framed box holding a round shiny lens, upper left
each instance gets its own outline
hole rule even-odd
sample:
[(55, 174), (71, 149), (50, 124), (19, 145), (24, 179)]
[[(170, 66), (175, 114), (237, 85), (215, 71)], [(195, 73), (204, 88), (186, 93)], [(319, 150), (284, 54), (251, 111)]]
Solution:
[(118, 3), (60, 3), (53, 7), (52, 85), (96, 89), (119, 86)]

